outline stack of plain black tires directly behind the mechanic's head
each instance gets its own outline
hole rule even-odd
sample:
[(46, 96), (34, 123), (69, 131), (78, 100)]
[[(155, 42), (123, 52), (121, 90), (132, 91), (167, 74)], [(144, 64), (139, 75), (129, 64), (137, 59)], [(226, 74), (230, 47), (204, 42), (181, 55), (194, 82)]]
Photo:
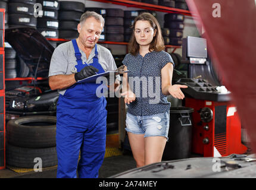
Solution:
[(76, 1), (60, 1), (59, 37), (61, 39), (75, 39), (79, 36), (77, 24), (85, 11), (85, 4)]

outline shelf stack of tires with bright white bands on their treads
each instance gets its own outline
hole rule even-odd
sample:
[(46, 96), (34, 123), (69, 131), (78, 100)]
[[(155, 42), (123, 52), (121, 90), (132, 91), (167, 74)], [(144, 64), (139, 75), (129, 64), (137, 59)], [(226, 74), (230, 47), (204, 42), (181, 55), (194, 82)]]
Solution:
[[(60, 8), (59, 2), (57, 0), (37, 0), (37, 2), (42, 5), (42, 11), (38, 14), (38, 31), (46, 38), (58, 39), (58, 27), (60, 25), (58, 22), (58, 9)], [(57, 46), (55, 42), (49, 42), (52, 46)]]

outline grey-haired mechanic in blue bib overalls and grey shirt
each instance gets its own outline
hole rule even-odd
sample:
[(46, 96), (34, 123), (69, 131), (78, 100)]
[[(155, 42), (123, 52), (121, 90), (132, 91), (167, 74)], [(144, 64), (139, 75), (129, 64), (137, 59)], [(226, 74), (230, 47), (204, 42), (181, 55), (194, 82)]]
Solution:
[[(77, 25), (79, 37), (59, 45), (51, 58), (49, 86), (58, 89), (57, 178), (98, 178), (104, 159), (107, 104), (96, 96), (101, 84), (76, 83), (79, 80), (116, 69), (110, 50), (96, 44), (104, 18), (85, 12)], [(77, 161), (80, 160), (77, 166)]]

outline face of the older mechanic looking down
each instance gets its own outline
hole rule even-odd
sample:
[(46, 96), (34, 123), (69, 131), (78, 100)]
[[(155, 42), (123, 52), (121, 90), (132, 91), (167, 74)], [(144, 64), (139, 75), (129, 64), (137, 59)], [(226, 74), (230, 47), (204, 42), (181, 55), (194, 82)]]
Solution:
[(79, 40), (86, 48), (93, 48), (98, 42), (103, 25), (93, 17), (86, 19), (81, 24), (78, 24)]

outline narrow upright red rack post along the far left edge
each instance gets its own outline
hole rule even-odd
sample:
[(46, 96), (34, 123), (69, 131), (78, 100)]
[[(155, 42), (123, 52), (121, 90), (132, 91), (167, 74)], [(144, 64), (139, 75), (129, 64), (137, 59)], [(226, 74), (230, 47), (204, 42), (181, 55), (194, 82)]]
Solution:
[(5, 169), (4, 11), (0, 9), (0, 170)]

